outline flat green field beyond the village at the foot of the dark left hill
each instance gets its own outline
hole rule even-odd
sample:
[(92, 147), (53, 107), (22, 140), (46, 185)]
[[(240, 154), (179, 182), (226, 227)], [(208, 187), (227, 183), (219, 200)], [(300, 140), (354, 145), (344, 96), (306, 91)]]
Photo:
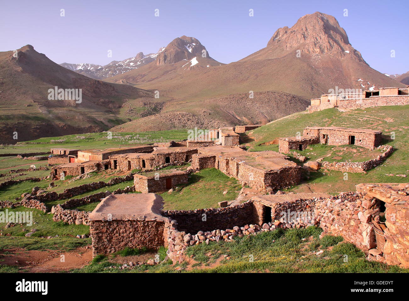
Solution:
[[(169, 130), (139, 133), (112, 133), (108, 138), (107, 132), (74, 134), (60, 137), (46, 137), (31, 141), (20, 142), (17, 145), (4, 145), (0, 154), (18, 154), (27, 152), (47, 152), (53, 147), (75, 149), (106, 149), (119, 145), (138, 145), (155, 142), (168, 142), (171, 140), (187, 139), (187, 130)], [(0, 157), (1, 158), (1, 157)]]

